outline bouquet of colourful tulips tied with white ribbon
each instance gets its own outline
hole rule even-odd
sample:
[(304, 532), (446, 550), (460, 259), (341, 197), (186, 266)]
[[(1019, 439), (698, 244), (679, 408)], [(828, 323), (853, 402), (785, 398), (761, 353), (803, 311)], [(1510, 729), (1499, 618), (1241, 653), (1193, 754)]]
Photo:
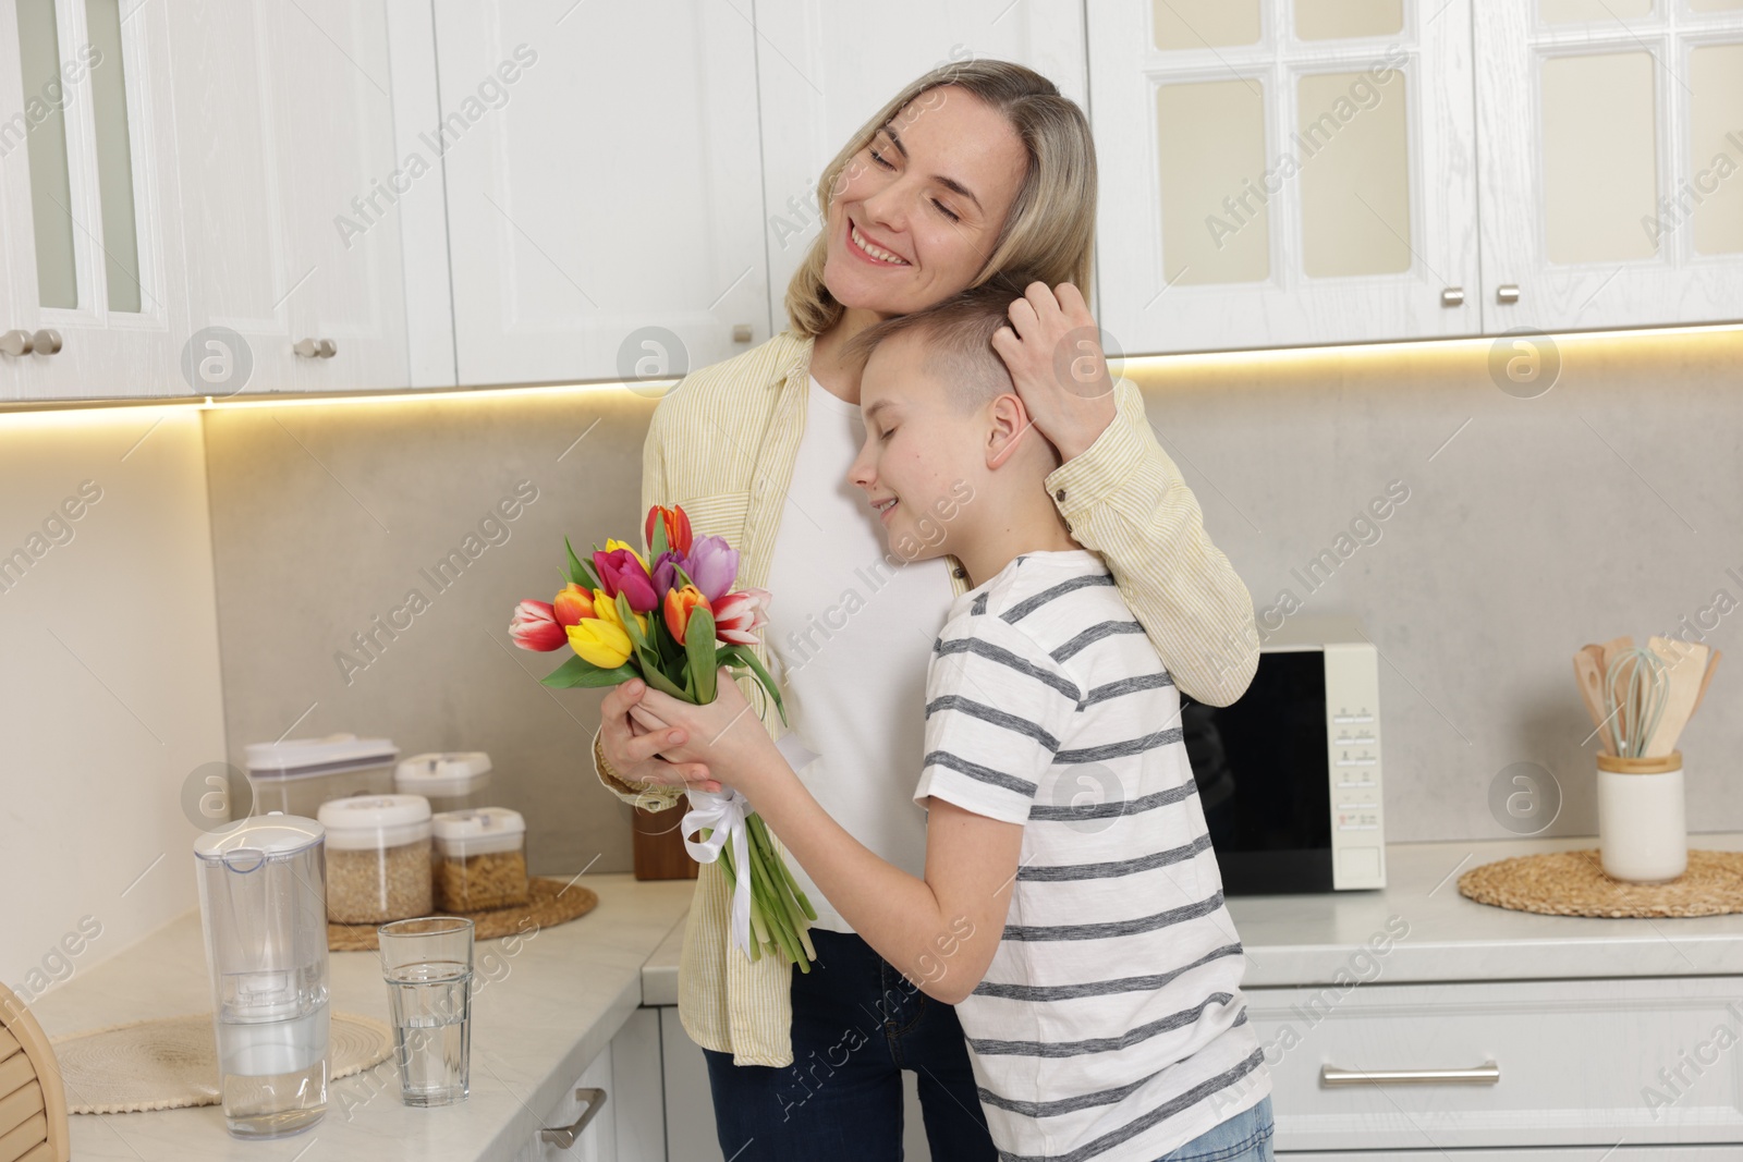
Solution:
[[(769, 591), (739, 589), (739, 554), (723, 537), (690, 535), (682, 507), (654, 505), (643, 524), (647, 557), (621, 540), (594, 545), (591, 568), (568, 549), (568, 584), (549, 603), (521, 601), (509, 634), (523, 650), (575, 652), (546, 678), (547, 686), (648, 686), (697, 706), (715, 700), (718, 667), (744, 667), (769, 693), (781, 721), (786, 707), (769, 671), (751, 652), (769, 624)], [(648, 559), (654, 561), (652, 568)], [(683, 845), (697, 862), (720, 859), (732, 890), (732, 936), (751, 960), (762, 949), (802, 972), (817, 958), (807, 934), (816, 909), (769, 840), (763, 821), (737, 789), (687, 791)], [(701, 841), (690, 840), (701, 834)], [(751, 936), (755, 934), (755, 941)]]

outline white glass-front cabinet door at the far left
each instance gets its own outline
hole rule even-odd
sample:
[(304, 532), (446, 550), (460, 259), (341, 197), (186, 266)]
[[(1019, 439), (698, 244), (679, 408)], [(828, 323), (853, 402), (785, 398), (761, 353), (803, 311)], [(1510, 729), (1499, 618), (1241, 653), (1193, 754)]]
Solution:
[(5, 399), (173, 390), (187, 308), (169, 10), (122, 7), (0, 0)]

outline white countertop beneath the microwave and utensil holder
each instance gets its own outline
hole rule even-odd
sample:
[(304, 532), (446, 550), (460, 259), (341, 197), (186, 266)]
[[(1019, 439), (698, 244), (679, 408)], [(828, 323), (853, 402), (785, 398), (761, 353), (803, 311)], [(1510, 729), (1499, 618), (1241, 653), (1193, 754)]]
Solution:
[[(1229, 915), (1246, 949), (1246, 988), (1332, 984), (1372, 974), (1351, 956), (1408, 925), (1375, 981), (1520, 981), (1614, 976), (1743, 974), (1743, 915), (1685, 920), (1590, 920), (1478, 904), (1459, 895), (1471, 868), (1597, 847), (1595, 836), (1387, 843), (1384, 888), (1307, 895), (1232, 895)], [(1743, 833), (1691, 834), (1691, 848), (1743, 850)], [(1401, 925), (1400, 925), (1401, 922)], [(678, 1003), (676, 925), (641, 969), (648, 1005)]]

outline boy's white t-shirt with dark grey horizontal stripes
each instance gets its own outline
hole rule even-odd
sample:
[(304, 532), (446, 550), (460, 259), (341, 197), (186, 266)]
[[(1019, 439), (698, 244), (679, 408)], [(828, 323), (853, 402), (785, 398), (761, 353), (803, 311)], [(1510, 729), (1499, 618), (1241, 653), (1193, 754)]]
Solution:
[(1152, 1162), (1271, 1092), (1180, 695), (1098, 554), (1027, 552), (952, 603), (927, 796), (1025, 824), (957, 1005), (1000, 1159)]

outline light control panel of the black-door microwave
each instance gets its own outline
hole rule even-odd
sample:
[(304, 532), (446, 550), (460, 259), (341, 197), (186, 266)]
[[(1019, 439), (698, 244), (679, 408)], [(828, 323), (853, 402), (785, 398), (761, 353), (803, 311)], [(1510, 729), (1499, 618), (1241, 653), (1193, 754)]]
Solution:
[(1332, 780), (1332, 883), (1386, 887), (1380, 779), (1380, 672), (1370, 641), (1325, 645), (1326, 772)]

